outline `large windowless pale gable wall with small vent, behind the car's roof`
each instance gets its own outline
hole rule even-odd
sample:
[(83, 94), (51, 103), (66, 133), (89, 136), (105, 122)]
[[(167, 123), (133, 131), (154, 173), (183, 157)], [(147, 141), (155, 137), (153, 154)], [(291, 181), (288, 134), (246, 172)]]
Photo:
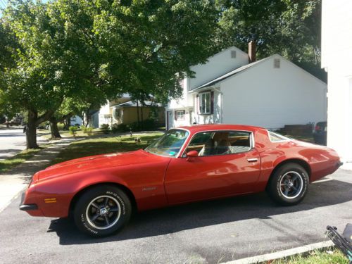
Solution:
[[(274, 68), (275, 58), (280, 68)], [(281, 56), (221, 83), (225, 123), (277, 129), (327, 119), (326, 84)]]

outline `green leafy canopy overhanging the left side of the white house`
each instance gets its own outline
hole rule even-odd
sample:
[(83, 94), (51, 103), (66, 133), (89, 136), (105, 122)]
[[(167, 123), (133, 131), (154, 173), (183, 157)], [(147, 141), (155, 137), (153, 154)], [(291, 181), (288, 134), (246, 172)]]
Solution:
[[(109, 82), (136, 99), (180, 96), (179, 79), (205, 63), (214, 44), (213, 1), (100, 1), (94, 32)], [(119, 4), (118, 4), (119, 3)], [(141, 99), (142, 99), (141, 98)]]

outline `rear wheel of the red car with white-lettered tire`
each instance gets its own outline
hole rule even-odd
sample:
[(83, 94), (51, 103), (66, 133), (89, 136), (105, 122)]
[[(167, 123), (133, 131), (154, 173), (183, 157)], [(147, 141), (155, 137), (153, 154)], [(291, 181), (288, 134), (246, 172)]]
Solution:
[(300, 203), (308, 191), (306, 170), (296, 163), (287, 163), (275, 170), (268, 182), (269, 196), (284, 206)]

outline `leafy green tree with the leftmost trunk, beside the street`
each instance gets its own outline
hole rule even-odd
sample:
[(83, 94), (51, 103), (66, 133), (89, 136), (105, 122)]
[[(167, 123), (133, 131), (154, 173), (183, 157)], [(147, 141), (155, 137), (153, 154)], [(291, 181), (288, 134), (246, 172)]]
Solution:
[(28, 149), (38, 147), (37, 125), (49, 120), (64, 99), (98, 86), (103, 94), (94, 17), (79, 11), (69, 1), (30, 0), (12, 1), (4, 11), (1, 24), (14, 41), (6, 46), (12, 65), (1, 69), (1, 103), (27, 111)]

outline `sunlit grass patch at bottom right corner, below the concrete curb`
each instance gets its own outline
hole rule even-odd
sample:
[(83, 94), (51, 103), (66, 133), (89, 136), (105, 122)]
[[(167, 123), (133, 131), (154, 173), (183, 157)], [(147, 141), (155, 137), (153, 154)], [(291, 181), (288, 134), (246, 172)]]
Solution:
[(312, 251), (306, 256), (292, 256), (290, 258), (274, 260), (271, 264), (348, 264), (347, 258), (341, 251), (334, 249), (327, 251)]

